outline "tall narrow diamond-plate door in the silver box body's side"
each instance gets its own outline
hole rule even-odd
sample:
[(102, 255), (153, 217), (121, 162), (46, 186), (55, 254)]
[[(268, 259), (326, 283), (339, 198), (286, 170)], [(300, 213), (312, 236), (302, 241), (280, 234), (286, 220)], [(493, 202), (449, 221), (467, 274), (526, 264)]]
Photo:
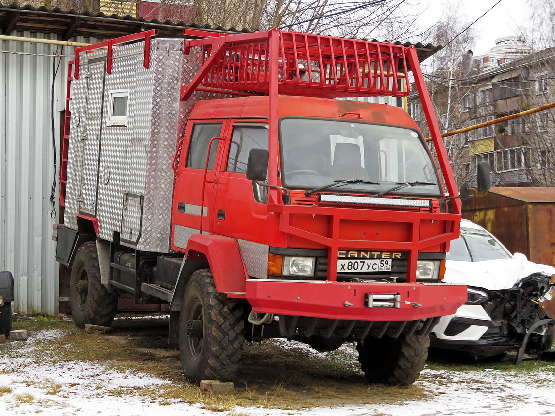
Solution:
[[(100, 149), (100, 126), (102, 123), (102, 103), (104, 97), (105, 60), (89, 63), (87, 77), (87, 98), (85, 105), (84, 133), (77, 138), (76, 151), (80, 163), (75, 164), (79, 185), (79, 212), (96, 216), (98, 153)], [(83, 75), (82, 75), (83, 76)]]

